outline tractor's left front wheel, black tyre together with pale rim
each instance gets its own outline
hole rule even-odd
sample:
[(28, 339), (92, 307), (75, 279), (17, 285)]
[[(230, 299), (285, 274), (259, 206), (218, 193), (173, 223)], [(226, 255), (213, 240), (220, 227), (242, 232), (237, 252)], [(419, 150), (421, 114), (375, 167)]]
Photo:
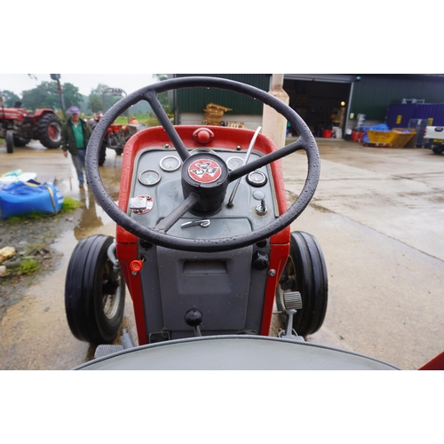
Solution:
[(113, 242), (103, 234), (83, 239), (67, 267), (67, 323), (77, 339), (92, 344), (112, 341), (123, 320), (125, 282), (107, 256)]

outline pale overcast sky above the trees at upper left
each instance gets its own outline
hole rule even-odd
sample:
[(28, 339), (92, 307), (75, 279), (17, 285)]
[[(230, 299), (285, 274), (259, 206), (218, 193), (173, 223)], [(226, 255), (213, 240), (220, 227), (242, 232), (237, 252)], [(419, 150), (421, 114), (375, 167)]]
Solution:
[[(0, 74), (0, 91), (8, 90), (21, 95), (22, 91), (32, 90), (42, 82), (52, 82), (49, 74)], [(156, 79), (152, 74), (61, 74), (60, 83), (72, 83), (80, 93), (88, 96), (99, 83), (110, 88), (121, 88), (131, 94), (143, 86), (154, 83)]]

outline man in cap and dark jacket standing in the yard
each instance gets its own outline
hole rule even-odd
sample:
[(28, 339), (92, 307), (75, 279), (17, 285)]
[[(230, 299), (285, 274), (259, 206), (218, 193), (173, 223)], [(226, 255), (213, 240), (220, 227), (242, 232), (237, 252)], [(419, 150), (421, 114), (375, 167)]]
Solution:
[(91, 136), (91, 127), (79, 118), (80, 110), (78, 107), (70, 107), (71, 117), (63, 124), (61, 128), (61, 144), (63, 155), (67, 157), (67, 152), (71, 155), (79, 179), (79, 188), (83, 188), (83, 170), (86, 155), (86, 147)]

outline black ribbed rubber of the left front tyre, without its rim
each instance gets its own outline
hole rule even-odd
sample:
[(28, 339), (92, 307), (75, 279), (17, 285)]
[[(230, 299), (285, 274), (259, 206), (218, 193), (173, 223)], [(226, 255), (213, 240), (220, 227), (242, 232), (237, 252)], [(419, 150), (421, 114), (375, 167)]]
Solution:
[(79, 242), (69, 260), (65, 284), (67, 322), (73, 335), (82, 341), (102, 344), (112, 341), (122, 323), (124, 281), (121, 275), (122, 297), (113, 320), (105, 319), (101, 310), (101, 273), (107, 262), (107, 249), (114, 242), (111, 236), (97, 234)]

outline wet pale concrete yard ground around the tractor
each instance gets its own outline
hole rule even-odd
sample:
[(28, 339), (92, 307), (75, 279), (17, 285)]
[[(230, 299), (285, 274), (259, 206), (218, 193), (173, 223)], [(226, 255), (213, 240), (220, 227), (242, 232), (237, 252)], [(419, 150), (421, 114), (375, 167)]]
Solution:
[[(329, 307), (321, 330), (309, 338), (417, 369), (444, 350), (444, 156), (421, 148), (361, 147), (319, 139), (321, 181), (310, 206), (292, 225), (321, 244), (329, 274)], [(115, 223), (79, 190), (71, 160), (37, 142), (0, 146), (2, 170), (35, 171), (57, 179), (64, 195), (85, 202), (82, 222), (55, 247), (58, 269), (36, 280), (0, 321), (0, 369), (71, 369), (91, 359), (90, 345), (67, 327), (64, 285), (76, 242), (115, 234)], [(121, 156), (107, 150), (100, 169), (110, 194), (118, 194)], [(305, 178), (305, 158), (284, 162), (289, 200)], [(127, 293), (124, 326), (137, 340)]]

